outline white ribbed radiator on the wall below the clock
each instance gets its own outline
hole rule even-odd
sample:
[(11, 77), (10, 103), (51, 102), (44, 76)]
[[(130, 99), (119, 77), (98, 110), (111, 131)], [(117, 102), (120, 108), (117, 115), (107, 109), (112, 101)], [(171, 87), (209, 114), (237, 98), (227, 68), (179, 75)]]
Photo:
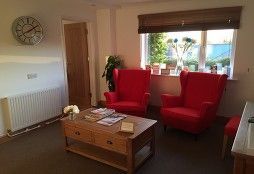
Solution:
[(60, 88), (46, 88), (3, 99), (5, 126), (16, 131), (62, 113)]

